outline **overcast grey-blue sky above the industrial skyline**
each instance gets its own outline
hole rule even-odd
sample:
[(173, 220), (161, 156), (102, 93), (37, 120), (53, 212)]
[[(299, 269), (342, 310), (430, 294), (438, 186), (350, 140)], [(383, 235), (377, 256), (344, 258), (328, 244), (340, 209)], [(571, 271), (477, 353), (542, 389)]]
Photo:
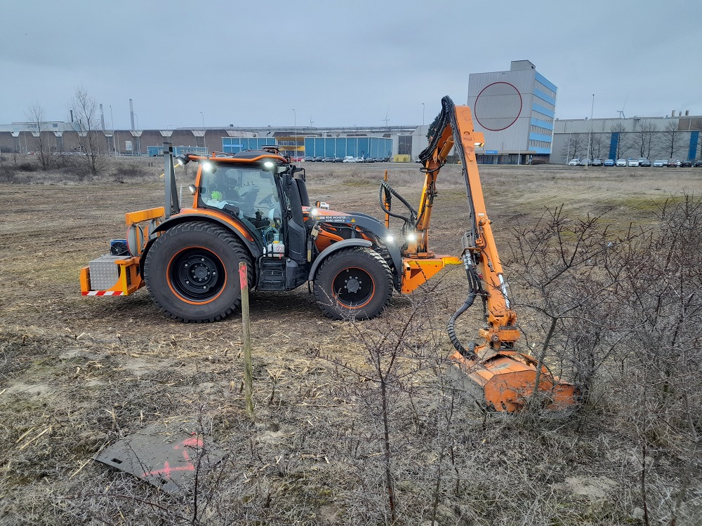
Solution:
[[(7, 0), (0, 124), (76, 86), (129, 128), (429, 123), (527, 59), (556, 116), (702, 114), (701, 0)], [(625, 104), (625, 107), (624, 107)], [(295, 111), (293, 112), (293, 109)], [(202, 115), (201, 115), (202, 112)]]

